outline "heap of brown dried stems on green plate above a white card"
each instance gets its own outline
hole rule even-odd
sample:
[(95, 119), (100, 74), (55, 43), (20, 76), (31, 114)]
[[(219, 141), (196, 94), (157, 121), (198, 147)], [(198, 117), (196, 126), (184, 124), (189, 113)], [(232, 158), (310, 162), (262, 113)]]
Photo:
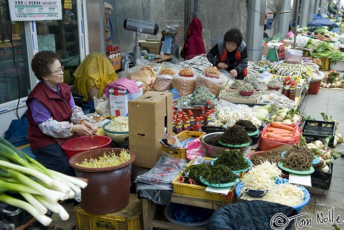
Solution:
[(293, 146), (285, 153), (283, 166), (288, 169), (307, 171), (311, 168), (314, 156), (312, 150), (300, 146)]

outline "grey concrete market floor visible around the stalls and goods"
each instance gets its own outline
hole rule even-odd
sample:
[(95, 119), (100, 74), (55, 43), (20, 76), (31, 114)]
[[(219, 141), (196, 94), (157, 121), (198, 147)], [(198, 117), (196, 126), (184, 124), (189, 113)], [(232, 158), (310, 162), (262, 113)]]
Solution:
[[(344, 90), (328, 90), (320, 89), (317, 95), (307, 95), (300, 105), (300, 110), (307, 115), (314, 117), (316, 120), (322, 120), (320, 112), (327, 113), (339, 121), (338, 131), (344, 134)], [(336, 150), (344, 152), (344, 144), (339, 144)], [(343, 223), (339, 226), (344, 229), (344, 157), (339, 157), (334, 160), (333, 175), (330, 190), (326, 195), (311, 195), (311, 201), (302, 212), (306, 215), (298, 219), (298, 228), (293, 227), (294, 230), (333, 230), (333, 223), (317, 224), (317, 213), (321, 212), (328, 215), (328, 210), (334, 210), (334, 219), (340, 215), (340, 221)], [(320, 190), (322, 194), (324, 190)], [(73, 204), (63, 204), (70, 214), (68, 221), (61, 221), (60, 218), (53, 214), (53, 223), (49, 226), (49, 230), (73, 230), (76, 228), (76, 216), (73, 211)], [(311, 226), (301, 227), (305, 220), (312, 220)], [(29, 227), (29, 230), (37, 230), (37, 228)]]

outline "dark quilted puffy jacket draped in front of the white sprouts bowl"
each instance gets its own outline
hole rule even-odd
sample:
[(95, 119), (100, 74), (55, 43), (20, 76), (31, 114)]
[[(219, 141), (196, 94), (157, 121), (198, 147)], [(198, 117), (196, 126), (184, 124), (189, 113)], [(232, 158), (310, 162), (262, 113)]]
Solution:
[(288, 230), (293, 221), (287, 223), (286, 217), (297, 215), (296, 209), (267, 201), (239, 202), (220, 207), (210, 217), (208, 230), (273, 230), (270, 220), (277, 213), (284, 215), (284, 218), (282, 214), (279, 216), (284, 221), (285, 230)]

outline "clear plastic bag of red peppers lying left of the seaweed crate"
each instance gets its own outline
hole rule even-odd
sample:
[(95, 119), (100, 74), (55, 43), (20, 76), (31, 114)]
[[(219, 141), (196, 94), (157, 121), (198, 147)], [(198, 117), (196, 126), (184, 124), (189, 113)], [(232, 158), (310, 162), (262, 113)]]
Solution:
[(159, 157), (154, 167), (143, 175), (135, 179), (135, 183), (143, 182), (151, 185), (171, 184), (172, 180), (185, 167), (188, 160), (175, 158), (168, 153), (163, 153)]

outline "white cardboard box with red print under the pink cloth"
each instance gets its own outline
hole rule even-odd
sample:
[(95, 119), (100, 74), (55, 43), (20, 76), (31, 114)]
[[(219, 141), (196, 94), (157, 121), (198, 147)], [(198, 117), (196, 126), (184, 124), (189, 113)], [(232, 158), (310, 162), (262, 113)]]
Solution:
[(138, 93), (129, 94), (128, 90), (109, 90), (111, 116), (128, 116), (128, 101), (131, 99), (138, 98), (143, 94), (142, 82), (137, 81), (136, 84), (140, 88), (140, 92)]

